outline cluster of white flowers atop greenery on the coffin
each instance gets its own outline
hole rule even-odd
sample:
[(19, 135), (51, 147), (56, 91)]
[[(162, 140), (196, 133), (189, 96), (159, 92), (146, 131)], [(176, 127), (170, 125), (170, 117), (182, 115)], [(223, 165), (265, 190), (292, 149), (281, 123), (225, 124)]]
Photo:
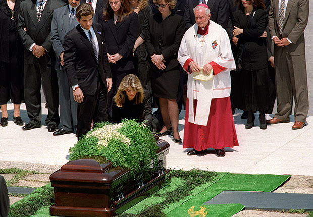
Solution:
[(89, 132), (86, 137), (89, 138), (90, 136), (94, 136), (99, 139), (97, 142), (98, 149), (107, 147), (108, 142), (112, 137), (121, 140), (123, 143), (129, 146), (131, 143), (130, 139), (118, 132), (124, 125), (124, 123), (105, 125)]

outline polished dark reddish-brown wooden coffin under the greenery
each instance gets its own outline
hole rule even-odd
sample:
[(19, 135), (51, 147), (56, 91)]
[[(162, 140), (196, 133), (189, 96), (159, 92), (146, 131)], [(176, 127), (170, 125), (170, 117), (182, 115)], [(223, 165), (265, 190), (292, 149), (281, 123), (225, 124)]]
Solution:
[(158, 167), (151, 177), (127, 169), (99, 164), (93, 159), (68, 162), (50, 176), (54, 204), (50, 215), (108, 217), (121, 213), (159, 190), (165, 179), (166, 155), (170, 145), (154, 136)]

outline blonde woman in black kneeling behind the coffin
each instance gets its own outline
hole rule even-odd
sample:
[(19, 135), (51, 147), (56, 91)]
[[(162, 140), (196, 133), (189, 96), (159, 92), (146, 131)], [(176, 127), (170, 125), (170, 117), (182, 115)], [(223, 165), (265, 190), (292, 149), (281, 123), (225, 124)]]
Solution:
[(140, 80), (133, 74), (126, 75), (113, 98), (112, 122), (120, 123), (124, 118), (147, 120), (152, 122), (152, 107), (150, 93), (143, 90)]

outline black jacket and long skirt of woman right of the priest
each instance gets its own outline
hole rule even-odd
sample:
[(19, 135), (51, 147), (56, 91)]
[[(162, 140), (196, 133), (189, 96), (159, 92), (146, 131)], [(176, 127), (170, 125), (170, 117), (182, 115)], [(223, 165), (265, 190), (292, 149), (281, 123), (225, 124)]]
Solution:
[(238, 35), (238, 53), (242, 53), (242, 70), (237, 78), (237, 96), (234, 104), (245, 111), (270, 111), (272, 81), (268, 71), (266, 38), (267, 14), (263, 9), (253, 10), (250, 15), (237, 10), (233, 13), (233, 25), (243, 29)]

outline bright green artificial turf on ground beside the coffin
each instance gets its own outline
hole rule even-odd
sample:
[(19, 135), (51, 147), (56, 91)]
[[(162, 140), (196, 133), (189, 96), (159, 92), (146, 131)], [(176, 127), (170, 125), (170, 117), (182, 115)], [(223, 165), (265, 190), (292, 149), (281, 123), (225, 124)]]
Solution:
[[(195, 213), (203, 207), (202, 209), (207, 212), (206, 216), (232, 216), (241, 211), (244, 206), (241, 204), (202, 204), (225, 190), (272, 192), (289, 178), (289, 175), (218, 173), (218, 177), (214, 182), (203, 183), (201, 186), (195, 187), (189, 196), (179, 202), (168, 204), (162, 212), (164, 212), (167, 216), (188, 217), (190, 216), (188, 214), (188, 210), (190, 213), (192, 213), (192, 211)], [(136, 214), (144, 210), (147, 206), (162, 202), (164, 200), (162, 196), (165, 195), (166, 192), (174, 190), (177, 186), (181, 185), (181, 183), (182, 180), (180, 178), (172, 178), (172, 182), (168, 186), (142, 200), (132, 208), (126, 210), (124, 213)], [(32, 217), (49, 216), (48, 213), (49, 207), (46, 206), (39, 209), (37, 214), (32, 215)]]

